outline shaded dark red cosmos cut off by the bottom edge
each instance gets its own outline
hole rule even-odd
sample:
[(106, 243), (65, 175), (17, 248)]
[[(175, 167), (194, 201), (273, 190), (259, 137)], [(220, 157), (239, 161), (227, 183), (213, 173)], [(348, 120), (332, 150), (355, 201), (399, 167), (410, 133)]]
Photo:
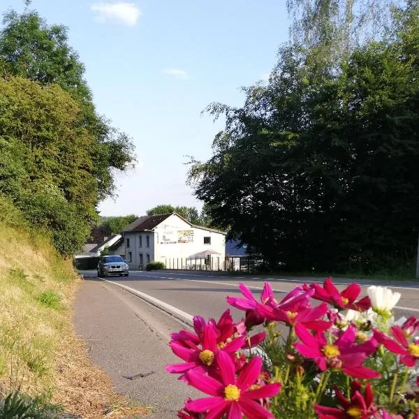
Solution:
[(377, 411), (371, 384), (367, 384), (365, 393), (362, 395), (361, 383), (353, 381), (351, 400), (346, 399), (337, 388), (335, 388), (335, 393), (341, 409), (314, 404), (314, 410), (319, 419), (370, 419)]

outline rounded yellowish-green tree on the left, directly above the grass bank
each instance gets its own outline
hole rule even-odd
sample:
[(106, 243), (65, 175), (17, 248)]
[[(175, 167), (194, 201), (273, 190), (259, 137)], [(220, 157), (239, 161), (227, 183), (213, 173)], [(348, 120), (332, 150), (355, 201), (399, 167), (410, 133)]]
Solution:
[(79, 117), (77, 101), (57, 85), (0, 80), (0, 192), (66, 255), (89, 236), (98, 202), (94, 139)]

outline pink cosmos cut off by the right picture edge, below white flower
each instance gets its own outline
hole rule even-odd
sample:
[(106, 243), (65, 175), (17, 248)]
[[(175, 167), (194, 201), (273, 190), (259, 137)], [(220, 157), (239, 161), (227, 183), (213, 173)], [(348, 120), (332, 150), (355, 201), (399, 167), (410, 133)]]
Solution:
[(400, 361), (403, 362), (404, 365), (407, 367), (414, 367), (416, 365), (416, 360), (419, 358), (419, 344), (417, 344), (416, 341), (409, 344), (409, 341), (407, 341), (400, 326), (393, 326), (391, 328), (391, 333), (393, 337), (395, 337), (395, 340), (390, 339), (385, 333), (374, 329), (374, 338), (380, 344), (383, 344), (388, 348), (390, 352), (402, 355)]

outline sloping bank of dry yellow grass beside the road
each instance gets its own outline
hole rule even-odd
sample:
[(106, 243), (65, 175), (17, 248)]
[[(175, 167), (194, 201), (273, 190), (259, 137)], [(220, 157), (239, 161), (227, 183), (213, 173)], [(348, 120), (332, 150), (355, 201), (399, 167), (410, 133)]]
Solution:
[(75, 337), (78, 281), (41, 235), (0, 224), (0, 390), (42, 395), (80, 418), (142, 416)]

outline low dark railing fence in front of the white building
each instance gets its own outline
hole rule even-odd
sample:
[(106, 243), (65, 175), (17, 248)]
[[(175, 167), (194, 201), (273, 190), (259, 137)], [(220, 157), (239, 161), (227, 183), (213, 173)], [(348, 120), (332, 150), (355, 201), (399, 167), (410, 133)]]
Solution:
[(251, 272), (253, 260), (248, 257), (240, 258), (166, 258), (168, 270), (200, 270), (223, 272)]

